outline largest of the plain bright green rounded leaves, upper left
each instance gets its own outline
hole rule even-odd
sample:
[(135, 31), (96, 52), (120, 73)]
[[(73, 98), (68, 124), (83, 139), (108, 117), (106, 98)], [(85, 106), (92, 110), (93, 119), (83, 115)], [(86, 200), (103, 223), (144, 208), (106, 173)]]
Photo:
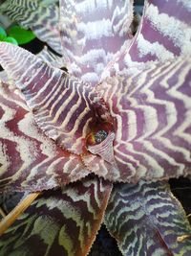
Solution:
[(32, 31), (25, 30), (19, 26), (13, 26), (8, 30), (8, 34), (14, 37), (18, 44), (24, 44), (32, 41), (35, 35)]

